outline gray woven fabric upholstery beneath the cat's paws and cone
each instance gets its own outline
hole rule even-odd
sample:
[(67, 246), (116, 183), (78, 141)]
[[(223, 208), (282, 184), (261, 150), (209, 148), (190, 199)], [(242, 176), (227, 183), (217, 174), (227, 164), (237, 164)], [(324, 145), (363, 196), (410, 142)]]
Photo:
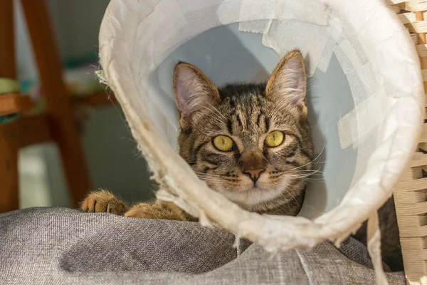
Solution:
[[(0, 284), (375, 283), (354, 239), (272, 256), (195, 222), (31, 208), (0, 215), (0, 240)], [(386, 275), (405, 284), (403, 272)]]

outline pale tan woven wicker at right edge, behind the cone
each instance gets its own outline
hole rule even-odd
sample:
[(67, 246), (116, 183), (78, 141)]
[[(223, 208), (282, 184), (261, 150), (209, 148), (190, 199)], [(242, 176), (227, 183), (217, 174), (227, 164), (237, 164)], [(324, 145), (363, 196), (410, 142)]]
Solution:
[[(420, 56), (424, 90), (427, 90), (427, 1), (389, 0)], [(427, 284), (427, 123), (424, 124), (419, 150), (401, 182), (394, 190), (401, 247), (408, 284)]]

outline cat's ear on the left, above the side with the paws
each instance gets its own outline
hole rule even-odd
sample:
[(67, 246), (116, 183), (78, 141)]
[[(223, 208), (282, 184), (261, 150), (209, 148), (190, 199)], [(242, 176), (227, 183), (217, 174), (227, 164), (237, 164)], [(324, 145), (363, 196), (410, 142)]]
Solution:
[(174, 95), (183, 130), (191, 130), (200, 111), (219, 101), (218, 89), (199, 68), (182, 62), (175, 66)]

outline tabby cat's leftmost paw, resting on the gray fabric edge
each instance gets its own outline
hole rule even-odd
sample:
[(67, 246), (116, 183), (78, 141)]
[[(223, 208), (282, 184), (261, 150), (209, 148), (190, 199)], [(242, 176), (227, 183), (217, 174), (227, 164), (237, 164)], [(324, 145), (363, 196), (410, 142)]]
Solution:
[(83, 200), (81, 205), (83, 212), (88, 213), (111, 213), (111, 214), (124, 214), (129, 207), (125, 202), (112, 195), (112, 193), (102, 190), (92, 192), (86, 199)]

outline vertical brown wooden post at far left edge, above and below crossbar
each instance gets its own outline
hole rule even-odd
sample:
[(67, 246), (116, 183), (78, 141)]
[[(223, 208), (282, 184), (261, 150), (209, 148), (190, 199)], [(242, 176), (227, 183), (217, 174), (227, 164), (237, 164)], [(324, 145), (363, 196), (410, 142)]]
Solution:
[[(0, 77), (15, 78), (14, 1), (0, 6)], [(15, 123), (0, 125), (0, 213), (19, 209), (17, 132)]]

